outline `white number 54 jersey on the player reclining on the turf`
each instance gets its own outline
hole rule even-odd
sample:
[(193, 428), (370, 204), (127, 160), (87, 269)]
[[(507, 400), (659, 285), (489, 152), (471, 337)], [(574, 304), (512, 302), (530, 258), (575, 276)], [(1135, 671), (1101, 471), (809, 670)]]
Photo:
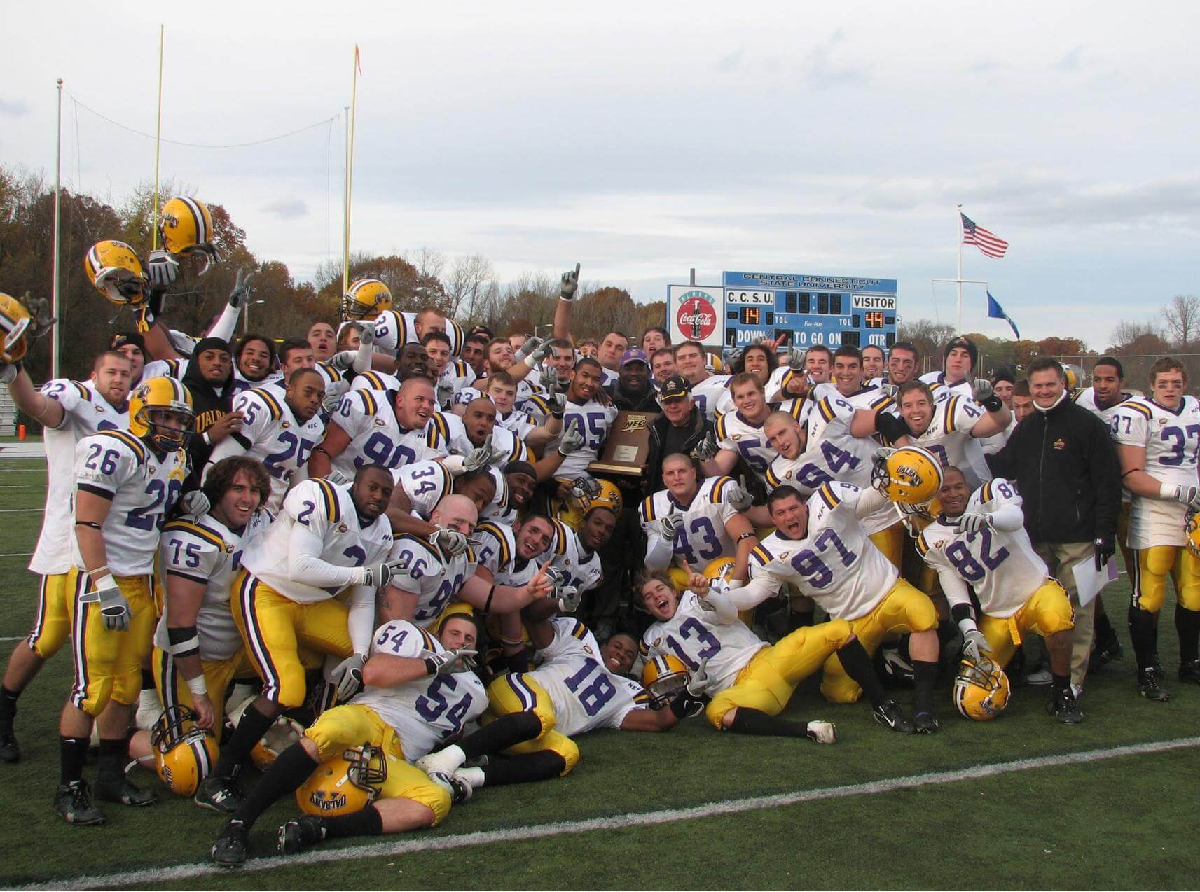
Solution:
[[(371, 639), (371, 655), (424, 659), (444, 653), (442, 643), (404, 620), (385, 622)], [(396, 729), (404, 759), (416, 761), (455, 736), (487, 709), (484, 682), (472, 671), (422, 675), (396, 687), (366, 687), (350, 703), (370, 706)]]

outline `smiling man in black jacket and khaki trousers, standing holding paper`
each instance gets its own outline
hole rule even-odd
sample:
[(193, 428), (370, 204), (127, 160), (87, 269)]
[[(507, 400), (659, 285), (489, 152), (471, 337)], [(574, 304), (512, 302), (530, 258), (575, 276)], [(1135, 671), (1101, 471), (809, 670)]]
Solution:
[[(1108, 428), (1070, 402), (1067, 374), (1045, 357), (1030, 366), (1034, 411), (990, 456), (997, 477), (1014, 481), (1025, 502), (1025, 529), (1075, 608), (1070, 683), (1082, 688), (1092, 650), (1096, 605), (1079, 605), (1074, 567), (1108, 561), (1116, 550), (1121, 470)], [(1062, 680), (1054, 680), (1056, 691)]]

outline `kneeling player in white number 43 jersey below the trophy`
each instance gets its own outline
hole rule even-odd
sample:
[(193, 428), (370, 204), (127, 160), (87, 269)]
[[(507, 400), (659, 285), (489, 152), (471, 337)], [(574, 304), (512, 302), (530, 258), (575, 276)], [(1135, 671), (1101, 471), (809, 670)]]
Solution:
[(737, 560), (733, 575), (745, 579), (746, 560), (755, 547), (754, 524), (743, 512), (750, 494), (730, 477), (697, 482), (692, 460), (676, 452), (662, 459), (666, 489), (642, 501), (638, 512), (646, 532), (646, 566), (660, 569), (676, 559), (692, 573), (718, 558)]

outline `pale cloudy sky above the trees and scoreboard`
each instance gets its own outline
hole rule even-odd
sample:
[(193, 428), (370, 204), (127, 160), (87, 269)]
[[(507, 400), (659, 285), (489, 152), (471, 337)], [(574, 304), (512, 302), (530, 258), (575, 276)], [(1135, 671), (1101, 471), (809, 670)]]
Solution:
[[(918, 6), (911, 10), (906, 6)], [(101, 197), (163, 175), (226, 205), (300, 277), (341, 243), (480, 253), (500, 278), (580, 261), (661, 300), (721, 270), (900, 281), (954, 320), (955, 203), (1010, 243), (964, 247), (1027, 337), (1103, 349), (1200, 293), (1200, 94), (1189, 2), (7, 4), (43, 35), (0, 56), (0, 162)], [(344, 16), (341, 14), (342, 11)], [(82, 104), (79, 104), (82, 103)], [(86, 107), (86, 108), (85, 108)], [(92, 110), (89, 110), (92, 109)], [(967, 287), (965, 327), (1006, 336)], [(936, 303), (935, 303), (936, 296)]]

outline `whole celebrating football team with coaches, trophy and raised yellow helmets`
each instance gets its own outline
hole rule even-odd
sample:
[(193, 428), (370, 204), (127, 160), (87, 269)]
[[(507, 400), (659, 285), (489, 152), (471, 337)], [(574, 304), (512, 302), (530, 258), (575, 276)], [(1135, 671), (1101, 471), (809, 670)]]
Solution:
[[(547, 340), (398, 312), (372, 278), (340, 320), (235, 339), (241, 273), (197, 338), (170, 300), (218, 261), (211, 216), (180, 197), (161, 221), (145, 263), (119, 241), (84, 259), (132, 314), (88, 380), (37, 386), (22, 360), (54, 320), (0, 295), (0, 381), (49, 475), (0, 760), (68, 645), (68, 824), (188, 796), (238, 866), (290, 795), (283, 854), (564, 776), (598, 728), (832, 745), (865, 699), (881, 734), (934, 734), (952, 703), (995, 717), (1009, 675), (1046, 686), (1055, 733), (1122, 657), (1092, 597), (1118, 549), (1129, 695), (1170, 697), (1169, 578), (1171, 670), (1200, 683), (1200, 403), (1176, 360), (1135, 396), (1112, 357), (1086, 388), (1052, 358), (983, 376), (966, 337), (936, 357), (596, 342), (571, 334), (578, 266)], [(618, 442), (644, 447), (634, 472)], [(826, 713), (782, 717), (817, 674)]]

